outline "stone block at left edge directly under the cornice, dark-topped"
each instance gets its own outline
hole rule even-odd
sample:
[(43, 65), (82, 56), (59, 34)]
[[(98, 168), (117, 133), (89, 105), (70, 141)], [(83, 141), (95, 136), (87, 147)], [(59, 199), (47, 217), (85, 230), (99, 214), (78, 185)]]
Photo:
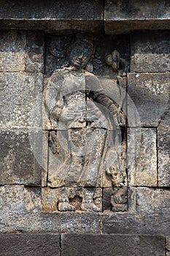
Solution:
[(1, 31), (0, 34), (0, 71), (24, 71), (26, 31)]

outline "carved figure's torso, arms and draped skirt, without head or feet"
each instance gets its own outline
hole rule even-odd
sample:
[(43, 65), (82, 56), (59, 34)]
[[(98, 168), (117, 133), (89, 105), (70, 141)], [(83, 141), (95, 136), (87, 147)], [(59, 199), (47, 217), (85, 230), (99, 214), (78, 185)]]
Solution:
[(113, 102), (98, 78), (69, 68), (56, 70), (47, 85), (45, 105), (50, 120), (58, 124), (51, 132), (51, 186), (101, 187), (120, 135), (110, 111)]

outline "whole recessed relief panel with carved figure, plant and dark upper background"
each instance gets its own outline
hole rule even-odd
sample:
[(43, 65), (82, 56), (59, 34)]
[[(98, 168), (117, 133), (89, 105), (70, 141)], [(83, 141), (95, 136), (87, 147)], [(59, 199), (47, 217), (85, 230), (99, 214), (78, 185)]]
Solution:
[[(72, 34), (46, 42), (44, 211), (127, 211), (128, 37)], [(53, 200), (52, 203), (48, 203)], [(102, 206), (103, 202), (103, 206)]]

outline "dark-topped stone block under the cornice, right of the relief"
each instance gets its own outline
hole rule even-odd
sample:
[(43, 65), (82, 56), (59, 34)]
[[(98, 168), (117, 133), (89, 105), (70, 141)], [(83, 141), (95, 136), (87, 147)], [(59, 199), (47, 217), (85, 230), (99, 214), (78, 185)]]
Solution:
[(131, 72), (170, 71), (170, 35), (168, 31), (136, 32), (131, 36)]

